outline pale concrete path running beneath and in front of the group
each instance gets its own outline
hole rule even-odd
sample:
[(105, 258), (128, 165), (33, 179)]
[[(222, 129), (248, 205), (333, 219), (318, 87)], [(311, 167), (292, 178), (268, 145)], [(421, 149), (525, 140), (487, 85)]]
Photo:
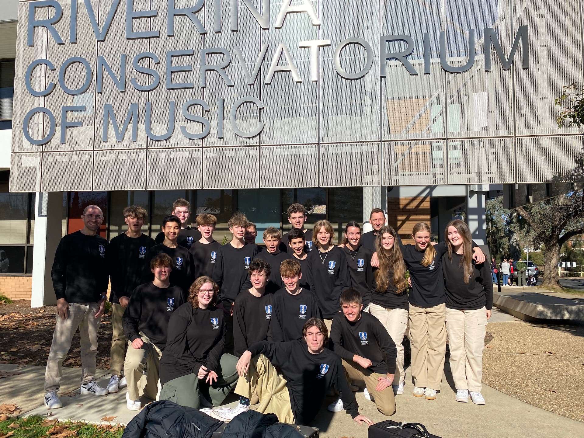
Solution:
[[(43, 402), (44, 367), (27, 366), (17, 369), (14, 365), (0, 365), (1, 371), (20, 371), (22, 374), (9, 376), (0, 380), (0, 402), (16, 403), (23, 409), (25, 416), (49, 415), (60, 420), (82, 420), (92, 423), (107, 423), (101, 419), (114, 416), (112, 423), (127, 424), (136, 411), (126, 409), (126, 390), (103, 397), (80, 395), (78, 382), (81, 374), (79, 369), (64, 369), (63, 382), (68, 385), (61, 390), (75, 390), (73, 397), (61, 397), (63, 408), (47, 412)], [(108, 374), (102, 376), (99, 383), (107, 384)], [(407, 370), (409, 378), (409, 370)], [(543, 409), (525, 404), (513, 397), (484, 386), (485, 406), (472, 402), (463, 404), (454, 399), (456, 392), (451, 388), (452, 378), (447, 371), (444, 376), (442, 391), (438, 398), (429, 401), (412, 395), (412, 384), (406, 381), (405, 394), (397, 396), (398, 411), (391, 419), (404, 422), (420, 422), (426, 425), (430, 433), (447, 438), (472, 436), (474, 438), (512, 436), (516, 438), (533, 436), (562, 436), (576, 438), (583, 436), (584, 425), (576, 420), (544, 411)], [(231, 396), (230, 396), (231, 397)], [(368, 416), (373, 422), (380, 422), (384, 417), (375, 408), (373, 402), (363, 397), (363, 392), (356, 394), (359, 402), (359, 412)], [(232, 397), (230, 406), (237, 404), (237, 398)], [(147, 402), (142, 399), (142, 402)], [(328, 402), (333, 401), (330, 399)], [(343, 412), (328, 412), (323, 406), (312, 426), (321, 430), (320, 436), (365, 438), (367, 426), (357, 425), (349, 415)]]

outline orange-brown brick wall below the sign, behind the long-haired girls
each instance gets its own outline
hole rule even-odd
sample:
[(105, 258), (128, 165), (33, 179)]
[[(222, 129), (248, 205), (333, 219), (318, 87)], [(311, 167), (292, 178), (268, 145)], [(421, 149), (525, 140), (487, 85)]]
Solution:
[(430, 224), (430, 197), (402, 197), (387, 200), (387, 223), (404, 244), (413, 244), (412, 228), (418, 222)]

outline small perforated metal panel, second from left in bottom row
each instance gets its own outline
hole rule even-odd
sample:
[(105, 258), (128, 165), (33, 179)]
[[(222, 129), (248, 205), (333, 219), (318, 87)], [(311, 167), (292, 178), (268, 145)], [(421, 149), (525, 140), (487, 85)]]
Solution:
[(43, 152), (41, 192), (92, 190), (93, 151)]

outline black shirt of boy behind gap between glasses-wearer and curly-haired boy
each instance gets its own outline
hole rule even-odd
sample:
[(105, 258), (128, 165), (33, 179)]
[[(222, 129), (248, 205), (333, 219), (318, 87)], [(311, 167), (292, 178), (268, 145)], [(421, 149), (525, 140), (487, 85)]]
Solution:
[(248, 279), (249, 263), (258, 254), (258, 245), (245, 244), (234, 248), (227, 243), (217, 251), (213, 280), (219, 286), (219, 299), (233, 303)]

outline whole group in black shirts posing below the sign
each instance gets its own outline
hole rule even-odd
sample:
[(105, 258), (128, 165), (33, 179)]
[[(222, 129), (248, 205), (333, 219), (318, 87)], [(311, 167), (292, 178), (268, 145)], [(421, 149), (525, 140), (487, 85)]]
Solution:
[[(141, 232), (147, 212), (127, 207), (128, 230), (108, 244), (97, 235), (103, 214), (89, 206), (84, 230), (61, 240), (51, 273), (58, 302), (48, 408), (62, 405), (62, 359), (78, 327), (81, 392), (104, 395), (127, 385), (133, 410), (141, 408), (138, 380), (147, 370), (147, 397), (202, 405), (225, 421), (259, 403), (258, 411), (276, 413), (281, 422), (309, 424), (336, 388), (339, 399), (328, 409), (345, 409), (359, 424), (372, 424), (357, 411), (350, 383), (363, 381), (365, 397), (392, 415), (394, 396), (404, 392), (408, 326), (413, 395), (436, 398), (448, 332), (457, 401), (470, 394), (475, 404), (485, 403), (482, 349), (491, 273), (463, 221), (447, 224), (440, 244), (432, 244), (429, 226), (418, 223), (415, 245), (402, 244), (385, 225), (384, 211), (374, 208), (373, 231), (361, 234), (351, 221), (343, 244), (335, 245), (331, 223), (318, 221), (307, 230), (304, 207), (293, 204), (293, 229), (282, 237), (267, 228), (260, 247), (244, 214), (231, 217), (232, 239), (225, 245), (213, 239), (214, 215), (198, 215), (196, 230), (187, 226), (189, 215), (189, 203), (175, 201), (153, 240)], [(95, 382), (95, 333), (108, 276), (112, 377), (102, 388)], [(240, 396), (238, 406), (214, 409), (231, 391)]]

